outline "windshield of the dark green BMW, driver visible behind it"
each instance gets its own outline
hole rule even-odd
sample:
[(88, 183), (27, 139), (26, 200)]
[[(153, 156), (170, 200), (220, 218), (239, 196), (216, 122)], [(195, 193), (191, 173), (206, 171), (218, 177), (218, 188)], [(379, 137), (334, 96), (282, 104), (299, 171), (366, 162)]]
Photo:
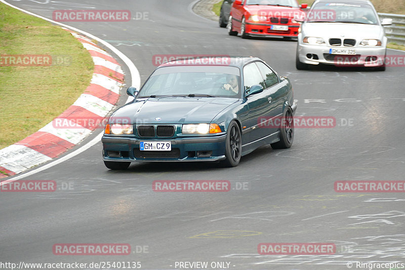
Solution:
[(181, 66), (158, 68), (142, 87), (138, 97), (241, 95), (240, 72), (230, 66)]

